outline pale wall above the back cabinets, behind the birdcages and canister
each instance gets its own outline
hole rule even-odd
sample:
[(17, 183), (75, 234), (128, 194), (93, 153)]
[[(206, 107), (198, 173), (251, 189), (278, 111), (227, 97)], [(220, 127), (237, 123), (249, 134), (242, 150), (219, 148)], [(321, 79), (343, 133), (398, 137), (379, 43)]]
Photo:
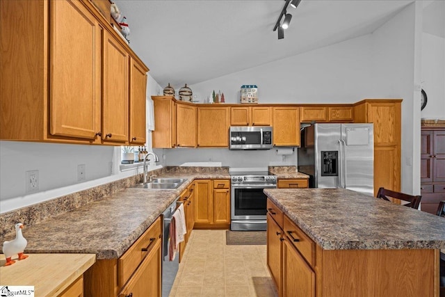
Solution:
[(218, 90), (239, 103), (240, 88), (256, 84), (259, 103), (357, 102), (369, 96), (371, 35), (191, 85), (200, 102)]

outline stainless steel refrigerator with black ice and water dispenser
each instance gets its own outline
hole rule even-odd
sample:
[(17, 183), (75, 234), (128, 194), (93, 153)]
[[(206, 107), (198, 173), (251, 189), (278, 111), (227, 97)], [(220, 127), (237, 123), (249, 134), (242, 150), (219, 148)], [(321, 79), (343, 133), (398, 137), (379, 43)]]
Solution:
[(373, 124), (314, 124), (301, 131), (298, 171), (309, 187), (373, 195)]

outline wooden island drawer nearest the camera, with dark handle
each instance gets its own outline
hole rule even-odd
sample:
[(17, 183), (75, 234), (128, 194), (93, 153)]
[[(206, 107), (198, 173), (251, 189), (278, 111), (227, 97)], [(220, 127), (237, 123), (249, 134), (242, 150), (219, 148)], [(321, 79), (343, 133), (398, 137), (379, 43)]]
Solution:
[(315, 264), (315, 243), (287, 216), (284, 216), (284, 234), (290, 239), (293, 246), (306, 259), (310, 266)]

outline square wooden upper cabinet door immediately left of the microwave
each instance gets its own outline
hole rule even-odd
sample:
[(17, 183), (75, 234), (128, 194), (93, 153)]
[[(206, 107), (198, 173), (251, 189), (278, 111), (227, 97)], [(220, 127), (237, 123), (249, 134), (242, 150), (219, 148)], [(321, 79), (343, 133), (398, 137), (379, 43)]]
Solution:
[(230, 113), (226, 106), (198, 106), (197, 146), (229, 146)]

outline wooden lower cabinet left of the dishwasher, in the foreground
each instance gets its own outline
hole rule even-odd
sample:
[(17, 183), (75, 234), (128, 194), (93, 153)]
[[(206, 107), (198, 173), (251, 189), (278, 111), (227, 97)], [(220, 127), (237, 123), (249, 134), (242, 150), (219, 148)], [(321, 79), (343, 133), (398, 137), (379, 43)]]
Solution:
[(97, 260), (83, 275), (83, 296), (161, 297), (161, 236), (159, 217), (119, 259)]

